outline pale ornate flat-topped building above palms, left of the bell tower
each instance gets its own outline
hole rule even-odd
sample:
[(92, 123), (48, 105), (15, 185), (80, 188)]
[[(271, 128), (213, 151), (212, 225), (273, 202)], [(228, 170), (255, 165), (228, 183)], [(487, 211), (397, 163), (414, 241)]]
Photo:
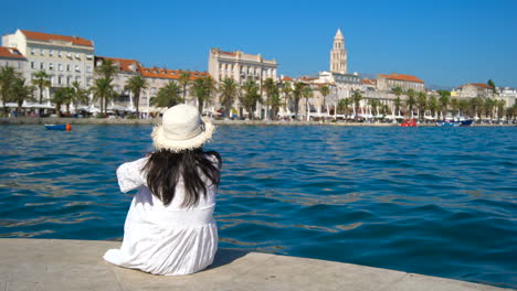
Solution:
[(241, 51), (225, 52), (211, 48), (209, 55), (209, 74), (219, 83), (232, 78), (242, 85), (247, 78), (261, 84), (266, 78), (277, 80), (278, 64), (275, 60), (264, 60), (261, 54), (252, 55)]

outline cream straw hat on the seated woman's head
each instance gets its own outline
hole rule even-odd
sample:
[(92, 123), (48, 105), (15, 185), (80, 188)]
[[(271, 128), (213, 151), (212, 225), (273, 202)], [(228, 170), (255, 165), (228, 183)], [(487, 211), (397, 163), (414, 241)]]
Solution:
[(163, 114), (161, 125), (152, 129), (152, 144), (158, 150), (180, 152), (200, 148), (212, 138), (215, 127), (201, 118), (190, 105), (173, 106)]

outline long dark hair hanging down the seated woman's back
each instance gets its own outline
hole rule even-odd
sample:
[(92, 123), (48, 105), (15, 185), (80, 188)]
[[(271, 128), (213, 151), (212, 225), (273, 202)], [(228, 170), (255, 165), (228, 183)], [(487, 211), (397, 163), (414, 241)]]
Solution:
[[(218, 164), (213, 164), (210, 157), (214, 157)], [(181, 205), (188, 207), (198, 203), (201, 194), (205, 197), (209, 186), (219, 185), (221, 163), (221, 157), (215, 151), (159, 150), (150, 154), (144, 170), (147, 170), (147, 185), (152, 195), (165, 205), (175, 198), (176, 185), (183, 177), (184, 200)]]

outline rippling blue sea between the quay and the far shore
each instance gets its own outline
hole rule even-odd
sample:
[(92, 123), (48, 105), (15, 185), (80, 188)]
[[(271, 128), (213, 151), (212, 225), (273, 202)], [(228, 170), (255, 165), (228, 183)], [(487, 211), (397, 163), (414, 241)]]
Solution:
[[(0, 126), (0, 237), (120, 240), (151, 126)], [(220, 247), (517, 288), (517, 128), (220, 126)]]

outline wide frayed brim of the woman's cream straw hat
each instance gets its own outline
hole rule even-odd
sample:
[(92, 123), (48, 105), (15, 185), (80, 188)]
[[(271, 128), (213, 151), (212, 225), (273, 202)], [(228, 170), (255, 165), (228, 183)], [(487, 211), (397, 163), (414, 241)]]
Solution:
[(204, 122), (204, 130), (198, 136), (188, 140), (170, 140), (165, 137), (163, 126), (157, 126), (152, 129), (152, 144), (158, 150), (169, 150), (172, 152), (180, 152), (186, 150), (193, 150), (201, 148), (205, 142), (212, 139), (215, 127), (209, 119), (202, 118)]

